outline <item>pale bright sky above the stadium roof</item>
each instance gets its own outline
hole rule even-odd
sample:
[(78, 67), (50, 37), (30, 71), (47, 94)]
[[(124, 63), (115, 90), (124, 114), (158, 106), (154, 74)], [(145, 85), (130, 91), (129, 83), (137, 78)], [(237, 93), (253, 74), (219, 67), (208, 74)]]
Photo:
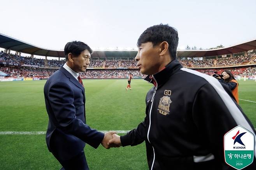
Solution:
[(80, 40), (94, 50), (136, 48), (155, 24), (179, 33), (179, 49), (208, 49), (256, 39), (256, 0), (6, 0), (0, 33), (54, 50)]

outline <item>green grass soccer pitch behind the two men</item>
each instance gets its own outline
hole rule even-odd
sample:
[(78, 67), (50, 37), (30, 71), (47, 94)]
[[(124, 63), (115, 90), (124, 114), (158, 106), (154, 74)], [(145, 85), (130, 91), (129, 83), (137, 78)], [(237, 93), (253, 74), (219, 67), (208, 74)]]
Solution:
[[(0, 132), (46, 131), (45, 80), (0, 82)], [(144, 120), (145, 97), (152, 87), (144, 80), (83, 80), (86, 89), (87, 124), (101, 131), (132, 130)], [(239, 81), (240, 106), (256, 127), (256, 82)], [(245, 101), (247, 100), (247, 101)], [(61, 165), (47, 150), (45, 134), (1, 134), (0, 169), (59, 170)], [(147, 170), (146, 147), (94, 149), (85, 147), (91, 170)]]

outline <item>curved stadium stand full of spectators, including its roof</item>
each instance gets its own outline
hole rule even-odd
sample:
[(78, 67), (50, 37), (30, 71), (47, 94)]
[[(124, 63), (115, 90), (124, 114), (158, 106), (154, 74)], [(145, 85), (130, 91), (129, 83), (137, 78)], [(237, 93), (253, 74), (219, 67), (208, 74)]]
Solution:
[[(65, 60), (60, 60), (60, 57), (65, 57), (63, 51), (42, 49), (2, 34), (0, 47), (5, 49), (0, 52), (0, 71), (3, 75), (8, 75), (4, 77), (48, 78), (65, 63)], [(10, 54), (10, 50), (16, 51), (16, 54)], [(31, 57), (22, 57), (21, 52), (31, 54)], [(81, 76), (124, 78), (132, 73), (133, 77), (144, 77), (134, 61), (136, 54), (136, 50), (95, 51), (89, 68)], [(46, 56), (46, 59), (36, 59), (33, 55)], [(57, 57), (59, 60), (47, 60), (47, 56)], [(220, 74), (224, 69), (229, 69), (235, 76), (256, 75), (256, 40), (221, 49), (178, 50), (177, 56), (185, 68), (208, 75), (212, 75), (214, 71)]]

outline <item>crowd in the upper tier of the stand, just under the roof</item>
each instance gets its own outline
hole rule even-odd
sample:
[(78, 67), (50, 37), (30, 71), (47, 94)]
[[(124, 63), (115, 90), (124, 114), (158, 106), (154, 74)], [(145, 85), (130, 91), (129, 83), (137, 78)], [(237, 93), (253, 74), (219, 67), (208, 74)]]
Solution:
[[(12, 54), (5, 54), (0, 52), (0, 61), (12, 62), (19, 64), (27, 64), (38, 67), (47, 68), (59, 68), (65, 63), (65, 60), (47, 60), (47, 65), (44, 59), (36, 59), (31, 57), (19, 57)], [(249, 56), (234, 56), (225, 57), (219, 59), (204, 59), (204, 60), (192, 60), (192, 59), (179, 59), (181, 64), (187, 68), (205, 68), (205, 67), (221, 67), (221, 66), (234, 66), (234, 65), (245, 65), (250, 63), (256, 63), (255, 55)], [(90, 68), (136, 68), (137, 62), (134, 59), (91, 59)]]

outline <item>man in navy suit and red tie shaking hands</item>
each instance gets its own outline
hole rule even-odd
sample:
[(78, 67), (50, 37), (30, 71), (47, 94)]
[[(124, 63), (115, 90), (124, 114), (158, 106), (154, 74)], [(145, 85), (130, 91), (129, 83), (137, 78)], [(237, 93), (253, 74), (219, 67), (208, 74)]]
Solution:
[(92, 50), (83, 42), (65, 45), (66, 63), (47, 80), (44, 98), (49, 123), (46, 144), (65, 170), (88, 170), (85, 143), (97, 148), (100, 144), (109, 149), (107, 142), (112, 134), (105, 134), (86, 125), (85, 94), (78, 73), (86, 71)]

